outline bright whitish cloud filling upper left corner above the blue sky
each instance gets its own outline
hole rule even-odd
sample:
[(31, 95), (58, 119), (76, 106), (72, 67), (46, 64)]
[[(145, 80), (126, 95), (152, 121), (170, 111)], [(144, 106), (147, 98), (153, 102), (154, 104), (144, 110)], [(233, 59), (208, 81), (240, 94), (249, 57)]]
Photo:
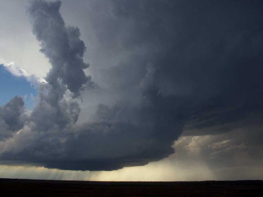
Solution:
[[(0, 62), (9, 66), (15, 76), (25, 76), (29, 81), (44, 81), (51, 67), (47, 58), (39, 52), (39, 42), (34, 38), (25, 8), (28, 1), (0, 1)], [(10, 12), (12, 10), (12, 12)], [(0, 63), (1, 64), (1, 63)]]

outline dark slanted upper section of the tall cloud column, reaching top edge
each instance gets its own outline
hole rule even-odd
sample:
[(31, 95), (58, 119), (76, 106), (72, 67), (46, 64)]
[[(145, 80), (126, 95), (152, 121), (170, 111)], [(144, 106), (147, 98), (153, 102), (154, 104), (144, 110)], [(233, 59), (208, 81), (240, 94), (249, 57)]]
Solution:
[(52, 64), (45, 77), (46, 81), (55, 85), (60, 79), (75, 96), (79, 96), (80, 90), (92, 84), (91, 78), (83, 71), (89, 67), (82, 59), (86, 47), (79, 38), (78, 27), (65, 27), (59, 13), (60, 5), (61, 1), (31, 1), (28, 12), (32, 21), (32, 32), (41, 42), (40, 51)]

